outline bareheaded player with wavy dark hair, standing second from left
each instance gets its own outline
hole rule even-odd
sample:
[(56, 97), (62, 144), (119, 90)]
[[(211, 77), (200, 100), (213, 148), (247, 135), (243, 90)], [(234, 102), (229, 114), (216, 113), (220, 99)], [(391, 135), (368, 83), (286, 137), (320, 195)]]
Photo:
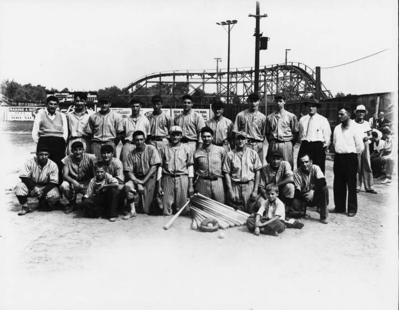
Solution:
[(95, 112), (86, 108), (86, 93), (76, 92), (74, 97), (75, 110), (66, 115), (69, 130), (66, 155), (72, 154), (72, 143), (75, 141), (83, 143), (84, 150), (90, 152), (90, 137), (86, 132), (86, 127), (89, 123), (89, 117)]

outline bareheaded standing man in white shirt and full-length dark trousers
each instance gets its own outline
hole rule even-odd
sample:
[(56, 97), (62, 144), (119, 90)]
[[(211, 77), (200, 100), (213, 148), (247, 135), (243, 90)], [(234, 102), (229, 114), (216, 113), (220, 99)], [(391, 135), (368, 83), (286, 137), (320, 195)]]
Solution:
[(334, 204), (331, 213), (346, 212), (348, 188), (348, 216), (355, 216), (358, 211), (356, 193), (356, 174), (358, 171), (358, 155), (364, 150), (363, 137), (350, 119), (351, 109), (344, 107), (338, 111), (338, 122), (334, 129)]

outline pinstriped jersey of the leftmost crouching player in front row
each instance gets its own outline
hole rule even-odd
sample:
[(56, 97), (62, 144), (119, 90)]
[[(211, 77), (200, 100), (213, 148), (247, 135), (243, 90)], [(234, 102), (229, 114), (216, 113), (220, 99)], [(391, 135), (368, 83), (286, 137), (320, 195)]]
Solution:
[(19, 177), (28, 177), (37, 185), (58, 184), (58, 167), (54, 161), (48, 159), (44, 167), (41, 168), (37, 163), (37, 157), (34, 156), (25, 161)]

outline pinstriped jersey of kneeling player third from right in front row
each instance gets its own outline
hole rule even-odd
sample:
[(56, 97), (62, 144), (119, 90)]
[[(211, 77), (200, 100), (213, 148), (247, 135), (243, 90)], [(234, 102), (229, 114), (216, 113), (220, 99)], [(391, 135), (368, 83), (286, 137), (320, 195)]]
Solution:
[(229, 173), (234, 182), (248, 182), (255, 179), (255, 171), (261, 166), (258, 154), (246, 148), (242, 154), (236, 150), (228, 152), (224, 157), (222, 171)]

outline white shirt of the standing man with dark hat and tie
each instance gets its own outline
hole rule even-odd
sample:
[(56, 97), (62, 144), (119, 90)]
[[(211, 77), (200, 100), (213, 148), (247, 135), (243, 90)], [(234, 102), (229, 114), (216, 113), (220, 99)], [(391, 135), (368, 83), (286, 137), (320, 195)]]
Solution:
[(312, 117), (308, 114), (299, 120), (299, 137), (301, 141), (323, 142), (323, 147), (329, 147), (331, 141), (331, 129), (328, 120), (315, 114)]

